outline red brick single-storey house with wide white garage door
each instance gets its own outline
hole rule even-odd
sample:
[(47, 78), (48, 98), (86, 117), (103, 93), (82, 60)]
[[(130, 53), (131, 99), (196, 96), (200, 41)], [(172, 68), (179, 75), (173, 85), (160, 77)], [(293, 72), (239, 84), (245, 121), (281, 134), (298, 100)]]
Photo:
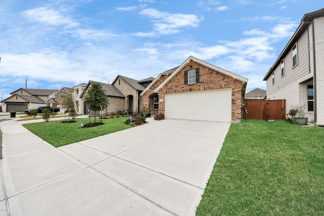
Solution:
[(166, 118), (239, 122), (248, 79), (190, 56), (142, 92), (143, 106)]

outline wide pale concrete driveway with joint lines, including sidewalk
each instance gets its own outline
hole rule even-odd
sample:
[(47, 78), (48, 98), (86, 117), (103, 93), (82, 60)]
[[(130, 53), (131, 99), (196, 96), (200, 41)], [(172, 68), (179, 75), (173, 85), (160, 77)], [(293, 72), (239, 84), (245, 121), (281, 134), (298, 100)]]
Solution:
[(230, 123), (148, 121), (59, 148), (0, 122), (0, 215), (194, 215)]

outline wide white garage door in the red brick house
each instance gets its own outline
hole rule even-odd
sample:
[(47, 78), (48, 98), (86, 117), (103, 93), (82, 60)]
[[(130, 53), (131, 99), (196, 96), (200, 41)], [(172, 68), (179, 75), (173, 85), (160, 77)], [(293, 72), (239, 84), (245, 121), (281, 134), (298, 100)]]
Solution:
[(231, 121), (231, 89), (166, 94), (166, 118)]

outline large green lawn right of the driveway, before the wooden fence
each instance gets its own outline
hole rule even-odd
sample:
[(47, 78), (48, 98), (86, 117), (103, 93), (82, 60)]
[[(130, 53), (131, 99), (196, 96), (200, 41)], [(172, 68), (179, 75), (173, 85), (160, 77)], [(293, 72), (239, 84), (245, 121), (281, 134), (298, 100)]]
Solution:
[(231, 124), (196, 215), (324, 215), (324, 128)]

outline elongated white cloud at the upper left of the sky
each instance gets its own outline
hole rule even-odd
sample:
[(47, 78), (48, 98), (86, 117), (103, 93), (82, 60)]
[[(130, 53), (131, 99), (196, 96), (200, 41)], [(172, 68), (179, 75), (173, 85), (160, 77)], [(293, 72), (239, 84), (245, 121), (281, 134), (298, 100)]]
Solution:
[(48, 25), (65, 25), (66, 27), (74, 27), (79, 23), (74, 22), (71, 18), (61, 15), (58, 11), (47, 7), (26, 10), (21, 13), (22, 16), (29, 20), (45, 23)]

